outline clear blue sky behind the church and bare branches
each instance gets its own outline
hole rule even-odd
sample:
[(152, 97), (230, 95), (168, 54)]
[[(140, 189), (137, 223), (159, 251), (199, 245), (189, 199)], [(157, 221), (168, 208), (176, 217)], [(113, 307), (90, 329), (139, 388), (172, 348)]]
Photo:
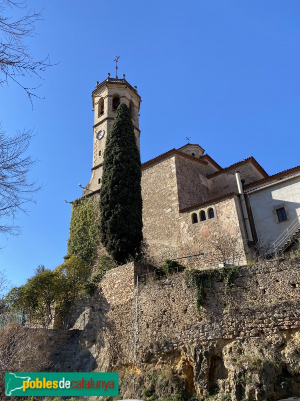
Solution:
[[(90, 178), (96, 81), (114, 75), (137, 85), (142, 162), (198, 143), (222, 167), (254, 156), (269, 173), (299, 163), (300, 2), (173, 0), (65, 2), (27, 0), (43, 8), (32, 56), (52, 63), (33, 100), (13, 83), (0, 88), (7, 133), (33, 128), (30, 177), (44, 184), (22, 234), (0, 239), (0, 270), (14, 285), (38, 264), (63, 262), (72, 200)], [(9, 10), (8, 10), (9, 12)]]

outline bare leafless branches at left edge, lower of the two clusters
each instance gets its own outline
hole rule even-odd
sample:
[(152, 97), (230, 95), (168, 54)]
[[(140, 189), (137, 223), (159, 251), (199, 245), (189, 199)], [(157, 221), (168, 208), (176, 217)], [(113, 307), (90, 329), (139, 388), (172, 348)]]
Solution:
[(16, 215), (26, 213), (25, 204), (34, 202), (32, 195), (40, 189), (36, 181), (27, 178), (36, 163), (25, 155), (32, 136), (32, 130), (23, 130), (10, 138), (0, 128), (0, 233), (4, 235), (19, 234)]

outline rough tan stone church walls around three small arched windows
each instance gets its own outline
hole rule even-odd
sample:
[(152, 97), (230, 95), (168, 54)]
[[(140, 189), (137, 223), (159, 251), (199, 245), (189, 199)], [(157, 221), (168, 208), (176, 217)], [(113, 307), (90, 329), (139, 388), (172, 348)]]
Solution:
[[(143, 236), (152, 262), (161, 264), (165, 259), (184, 257), (180, 261), (185, 266), (205, 266), (211, 263), (218, 266), (218, 260), (212, 260), (211, 253), (214, 252), (212, 241), (220, 234), (236, 237), (240, 261), (245, 261), (247, 249), (243, 244), (245, 233), (241, 228), (238, 199), (231, 196), (212, 204), (207, 203), (202, 208), (179, 213), (178, 198), (181, 202), (183, 199), (184, 202), (195, 202), (196, 193), (198, 199), (207, 196), (207, 187), (202, 182), (199, 163), (177, 155), (175, 157), (169, 157), (142, 171)], [(190, 174), (188, 179), (186, 174)], [(192, 177), (195, 178), (192, 180)], [(209, 207), (215, 212), (215, 218), (211, 220), (208, 220), (207, 215)], [(205, 222), (200, 222), (201, 210), (206, 211)], [(191, 222), (194, 212), (198, 213), (197, 224)], [(199, 253), (205, 254), (205, 257), (190, 257)]]

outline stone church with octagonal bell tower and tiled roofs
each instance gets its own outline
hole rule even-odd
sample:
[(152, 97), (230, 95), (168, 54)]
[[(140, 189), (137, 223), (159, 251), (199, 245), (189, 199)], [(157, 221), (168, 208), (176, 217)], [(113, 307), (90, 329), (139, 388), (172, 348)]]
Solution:
[[(120, 103), (130, 110), (139, 149), (140, 102), (125, 75), (108, 73), (96, 83), (91, 178), (83, 196), (99, 191), (106, 134)], [(240, 265), (298, 245), (300, 166), (268, 175), (250, 156), (221, 167), (199, 144), (187, 143), (141, 167), (143, 238), (154, 264)]]

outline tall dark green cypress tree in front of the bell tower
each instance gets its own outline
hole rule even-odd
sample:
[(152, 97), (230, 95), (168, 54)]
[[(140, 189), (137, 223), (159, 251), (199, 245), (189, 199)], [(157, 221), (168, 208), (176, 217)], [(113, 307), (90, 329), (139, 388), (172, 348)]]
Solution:
[(120, 104), (103, 154), (100, 241), (119, 263), (134, 259), (142, 242), (141, 166), (129, 108)]

